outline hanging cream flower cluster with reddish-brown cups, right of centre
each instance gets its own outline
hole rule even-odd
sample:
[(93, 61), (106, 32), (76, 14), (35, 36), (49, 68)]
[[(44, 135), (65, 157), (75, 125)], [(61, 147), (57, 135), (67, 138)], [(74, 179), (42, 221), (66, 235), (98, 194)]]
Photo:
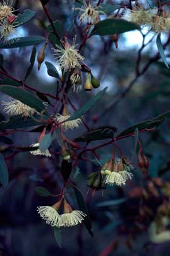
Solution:
[(110, 186), (125, 185), (127, 180), (131, 180), (132, 166), (126, 159), (111, 159), (102, 166), (100, 173), (105, 176), (104, 182)]

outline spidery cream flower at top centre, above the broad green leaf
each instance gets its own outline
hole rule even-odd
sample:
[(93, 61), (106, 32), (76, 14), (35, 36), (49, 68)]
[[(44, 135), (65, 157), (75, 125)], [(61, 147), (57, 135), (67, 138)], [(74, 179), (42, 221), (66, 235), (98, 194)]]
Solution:
[(81, 8), (76, 8), (82, 11), (82, 15), (79, 18), (80, 23), (91, 23), (95, 25), (100, 19), (99, 15), (106, 15), (104, 11), (99, 10), (100, 6), (92, 6), (91, 3), (86, 3), (84, 1), (83, 6)]

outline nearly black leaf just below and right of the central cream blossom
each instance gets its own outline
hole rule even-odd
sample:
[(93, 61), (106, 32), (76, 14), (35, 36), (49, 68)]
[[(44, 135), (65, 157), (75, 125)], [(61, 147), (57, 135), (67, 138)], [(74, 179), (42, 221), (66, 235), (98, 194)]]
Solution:
[(88, 131), (82, 137), (75, 139), (75, 142), (91, 142), (93, 140), (105, 140), (106, 138), (114, 138), (114, 132), (117, 129), (112, 126), (99, 127)]

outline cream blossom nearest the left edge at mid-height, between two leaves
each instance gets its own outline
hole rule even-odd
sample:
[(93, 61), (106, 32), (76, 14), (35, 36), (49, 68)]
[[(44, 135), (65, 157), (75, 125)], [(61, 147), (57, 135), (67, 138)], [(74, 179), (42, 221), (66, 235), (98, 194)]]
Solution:
[(3, 102), (2, 105), (4, 106), (4, 112), (9, 114), (9, 116), (21, 114), (24, 118), (28, 118), (37, 112), (32, 107), (29, 107), (18, 100), (11, 99), (9, 102)]

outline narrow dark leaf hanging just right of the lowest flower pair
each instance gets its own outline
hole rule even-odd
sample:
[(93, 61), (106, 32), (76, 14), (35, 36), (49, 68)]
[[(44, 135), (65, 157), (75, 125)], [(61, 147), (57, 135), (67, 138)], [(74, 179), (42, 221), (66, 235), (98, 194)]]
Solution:
[(80, 192), (80, 190), (78, 190), (78, 188), (76, 188), (76, 186), (72, 185), (72, 188), (73, 188), (73, 190), (75, 190), (76, 200), (78, 202), (78, 206), (79, 206), (80, 210), (82, 210), (82, 212), (87, 214), (87, 216), (85, 217), (83, 222), (84, 222), (85, 227), (87, 228), (88, 232), (93, 237), (94, 234), (92, 232), (92, 223), (90, 221), (90, 217), (89, 217), (89, 214), (88, 214), (87, 205), (85, 204), (85, 200), (82, 196), (82, 193)]

